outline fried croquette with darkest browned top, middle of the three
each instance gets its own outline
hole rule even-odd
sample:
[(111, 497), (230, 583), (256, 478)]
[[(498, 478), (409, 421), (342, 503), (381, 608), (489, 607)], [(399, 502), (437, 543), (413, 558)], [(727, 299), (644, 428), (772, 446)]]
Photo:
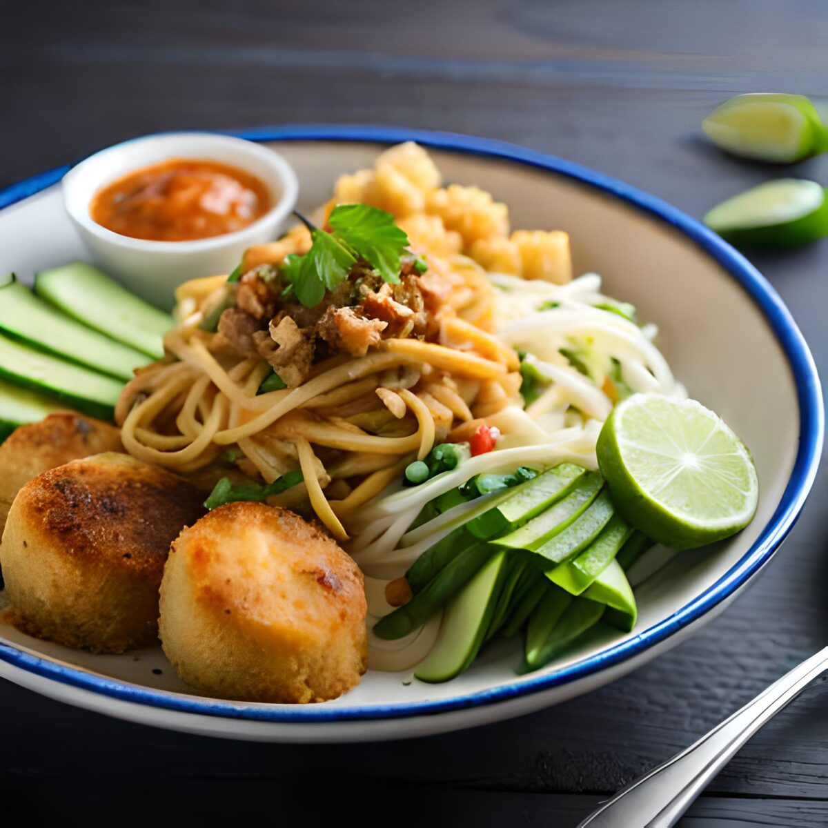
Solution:
[(166, 556), (204, 514), (203, 498), (166, 469), (115, 453), (40, 474), (17, 494), (0, 544), (12, 623), (94, 652), (156, 643)]

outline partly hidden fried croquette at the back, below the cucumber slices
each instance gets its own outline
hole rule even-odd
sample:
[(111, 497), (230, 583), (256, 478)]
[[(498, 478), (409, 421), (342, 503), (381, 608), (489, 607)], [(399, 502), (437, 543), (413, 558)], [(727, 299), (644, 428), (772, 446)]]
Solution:
[(55, 412), (12, 431), (0, 445), (0, 534), (12, 501), (29, 480), (47, 469), (102, 451), (123, 451), (120, 431), (75, 412)]

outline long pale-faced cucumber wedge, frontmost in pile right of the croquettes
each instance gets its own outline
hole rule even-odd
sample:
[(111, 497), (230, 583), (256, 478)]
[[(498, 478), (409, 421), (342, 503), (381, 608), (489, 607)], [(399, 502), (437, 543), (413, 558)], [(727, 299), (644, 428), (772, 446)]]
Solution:
[(498, 552), (445, 608), (436, 643), (414, 671), (420, 681), (449, 681), (474, 661), (492, 620), (505, 560), (506, 553)]

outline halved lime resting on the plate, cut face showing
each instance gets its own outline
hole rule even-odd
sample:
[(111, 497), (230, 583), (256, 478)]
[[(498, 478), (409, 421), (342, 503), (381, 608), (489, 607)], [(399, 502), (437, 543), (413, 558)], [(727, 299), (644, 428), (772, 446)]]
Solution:
[(758, 479), (744, 443), (695, 400), (635, 394), (614, 408), (598, 463), (624, 519), (674, 549), (744, 529)]

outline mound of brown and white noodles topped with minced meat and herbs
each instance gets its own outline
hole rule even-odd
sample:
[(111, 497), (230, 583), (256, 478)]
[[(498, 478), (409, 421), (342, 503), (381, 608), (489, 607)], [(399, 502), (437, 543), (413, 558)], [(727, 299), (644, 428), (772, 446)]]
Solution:
[[(416, 144), (343, 176), (300, 218), (229, 280), (180, 288), (167, 357), (137, 373), (116, 416), (137, 459), (214, 480), (208, 506), (257, 499), (318, 519), (363, 571), (369, 666), (407, 670), (446, 602), (405, 634), (372, 628), (412, 599), (421, 556), (510, 486), (595, 471), (619, 400), (686, 394), (656, 328), (598, 275), (571, 278), (566, 233), (509, 233), (506, 205), (441, 188)], [(384, 242), (365, 242), (372, 232)], [(467, 496), (470, 480), (516, 471)]]

